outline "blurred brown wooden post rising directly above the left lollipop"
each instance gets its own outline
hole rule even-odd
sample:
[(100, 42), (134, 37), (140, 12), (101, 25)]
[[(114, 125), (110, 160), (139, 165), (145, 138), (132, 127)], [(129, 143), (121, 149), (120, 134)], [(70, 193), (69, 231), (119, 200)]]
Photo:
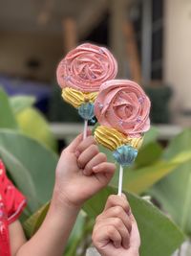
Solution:
[(76, 22), (74, 18), (68, 17), (63, 20), (63, 42), (64, 42), (64, 52), (68, 53), (70, 50), (74, 49), (77, 45), (77, 31)]

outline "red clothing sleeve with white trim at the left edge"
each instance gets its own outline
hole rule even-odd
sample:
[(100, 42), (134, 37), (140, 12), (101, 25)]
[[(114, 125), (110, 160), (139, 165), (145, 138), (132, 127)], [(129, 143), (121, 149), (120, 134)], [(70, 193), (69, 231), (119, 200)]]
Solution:
[(13, 186), (0, 160), (0, 256), (11, 256), (9, 224), (16, 221), (26, 198)]

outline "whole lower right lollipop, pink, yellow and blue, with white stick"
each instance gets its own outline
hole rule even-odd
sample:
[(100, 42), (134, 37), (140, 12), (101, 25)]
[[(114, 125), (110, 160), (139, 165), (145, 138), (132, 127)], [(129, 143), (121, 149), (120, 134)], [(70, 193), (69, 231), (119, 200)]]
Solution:
[(104, 82), (96, 98), (95, 113), (101, 126), (96, 141), (113, 152), (120, 165), (118, 195), (122, 192), (123, 167), (131, 165), (150, 128), (150, 100), (138, 85), (129, 80)]

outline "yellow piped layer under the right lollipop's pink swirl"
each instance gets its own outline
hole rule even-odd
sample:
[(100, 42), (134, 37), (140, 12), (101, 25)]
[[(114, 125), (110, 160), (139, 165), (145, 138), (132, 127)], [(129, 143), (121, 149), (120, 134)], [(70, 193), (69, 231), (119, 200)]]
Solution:
[(139, 149), (143, 138), (129, 138), (128, 136), (117, 131), (116, 128), (107, 128), (104, 126), (97, 127), (95, 130), (96, 141), (110, 151), (116, 151), (122, 145), (131, 145)]

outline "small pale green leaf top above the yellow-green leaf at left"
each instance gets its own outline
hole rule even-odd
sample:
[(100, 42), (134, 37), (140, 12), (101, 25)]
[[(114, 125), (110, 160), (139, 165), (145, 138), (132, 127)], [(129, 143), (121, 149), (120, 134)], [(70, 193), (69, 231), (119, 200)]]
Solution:
[(32, 106), (35, 103), (35, 98), (32, 96), (24, 95), (12, 96), (10, 98), (10, 102), (14, 114), (18, 114), (29, 106)]

